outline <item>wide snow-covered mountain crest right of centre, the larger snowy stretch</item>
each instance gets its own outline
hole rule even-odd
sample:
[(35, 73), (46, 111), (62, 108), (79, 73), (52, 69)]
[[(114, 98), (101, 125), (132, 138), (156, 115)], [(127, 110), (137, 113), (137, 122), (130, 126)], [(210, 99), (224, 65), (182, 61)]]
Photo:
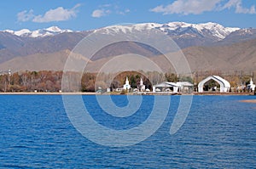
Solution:
[(205, 24), (188, 24), (185, 22), (170, 22), (167, 24), (145, 23), (135, 25), (113, 25), (107, 28), (102, 28), (96, 31), (105, 31), (105, 33), (123, 32), (127, 33), (132, 31), (144, 31), (158, 29), (164, 31), (171, 37), (207, 37), (215, 41), (223, 40), (230, 35), (233, 31), (238, 31), (240, 28), (224, 27), (217, 23), (208, 22)]

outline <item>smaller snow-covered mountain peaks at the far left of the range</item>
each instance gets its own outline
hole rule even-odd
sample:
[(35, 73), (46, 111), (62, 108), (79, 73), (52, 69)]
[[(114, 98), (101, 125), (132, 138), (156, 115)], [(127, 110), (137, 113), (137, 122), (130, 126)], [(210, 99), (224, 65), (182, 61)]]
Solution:
[(36, 31), (22, 29), (20, 31), (5, 30), (5, 32), (9, 32), (9, 33), (19, 36), (19, 37), (48, 37), (48, 36), (54, 36), (54, 35), (64, 33), (64, 32), (73, 32), (73, 31), (61, 30), (57, 26), (52, 26), (47, 29), (40, 29), (40, 30), (36, 30)]

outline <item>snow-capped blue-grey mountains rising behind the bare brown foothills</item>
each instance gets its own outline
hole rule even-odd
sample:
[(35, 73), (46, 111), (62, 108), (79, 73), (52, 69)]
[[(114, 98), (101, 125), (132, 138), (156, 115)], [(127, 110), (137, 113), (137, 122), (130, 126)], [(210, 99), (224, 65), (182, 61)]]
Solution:
[[(48, 54), (65, 49), (72, 50), (78, 42), (91, 32), (122, 32), (123, 34), (129, 34), (130, 32), (140, 33), (152, 29), (163, 31), (182, 49), (194, 46), (221, 46), (256, 38), (256, 29), (224, 27), (223, 25), (212, 22), (204, 24), (170, 22), (166, 24), (142, 23), (133, 25), (112, 25), (90, 31), (62, 30), (57, 26), (36, 31), (30, 31), (28, 29), (20, 31), (5, 30), (0, 31), (0, 63), (16, 56), (38, 53)], [(119, 46), (113, 48), (113, 51), (115, 51), (116, 48), (123, 47), (124, 44), (120, 43)], [(134, 47), (132, 46), (131, 49), (132, 48)], [(147, 49), (149, 50), (149, 48)], [(138, 48), (134, 50), (138, 50)], [(103, 55), (104, 54), (102, 54), (102, 57)]]

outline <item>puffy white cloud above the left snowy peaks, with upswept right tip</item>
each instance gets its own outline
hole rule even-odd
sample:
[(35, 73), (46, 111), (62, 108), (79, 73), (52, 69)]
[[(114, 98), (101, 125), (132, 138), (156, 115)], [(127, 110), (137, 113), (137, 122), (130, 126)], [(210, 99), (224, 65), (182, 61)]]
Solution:
[(26, 22), (32, 20), (33, 22), (37, 23), (44, 23), (44, 22), (53, 22), (53, 21), (63, 21), (63, 20), (70, 20), (77, 16), (77, 8), (79, 8), (80, 4), (75, 5), (73, 8), (63, 8), (58, 7), (54, 9), (49, 9), (45, 14), (35, 15), (33, 14), (33, 10), (29, 12), (22, 11), (17, 14), (18, 21)]

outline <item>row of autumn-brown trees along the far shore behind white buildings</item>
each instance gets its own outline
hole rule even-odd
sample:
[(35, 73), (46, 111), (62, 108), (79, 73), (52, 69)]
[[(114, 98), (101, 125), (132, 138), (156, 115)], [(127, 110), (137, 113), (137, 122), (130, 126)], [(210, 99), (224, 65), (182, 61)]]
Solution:
[[(0, 76), (0, 92), (34, 92), (35, 90), (38, 92), (58, 92), (61, 90), (62, 75), (62, 71), (49, 70), (7, 73)], [(186, 81), (197, 85), (202, 79), (212, 75), (222, 76), (230, 82), (231, 87), (238, 87), (242, 84), (246, 85), (254, 74), (243, 72), (224, 74), (219, 71), (201, 71), (193, 73), (192, 76), (177, 76), (172, 72), (163, 74), (156, 71), (125, 71), (119, 74), (85, 72), (82, 76), (79, 73), (69, 72), (66, 75), (68, 75), (68, 82), (70, 83), (67, 88), (68, 92), (95, 92), (99, 87), (103, 89), (122, 87), (126, 76), (128, 76), (132, 88), (137, 88), (142, 78), (146, 88), (151, 89), (154, 84), (164, 81)], [(79, 88), (76, 87), (77, 84), (79, 84)]]

